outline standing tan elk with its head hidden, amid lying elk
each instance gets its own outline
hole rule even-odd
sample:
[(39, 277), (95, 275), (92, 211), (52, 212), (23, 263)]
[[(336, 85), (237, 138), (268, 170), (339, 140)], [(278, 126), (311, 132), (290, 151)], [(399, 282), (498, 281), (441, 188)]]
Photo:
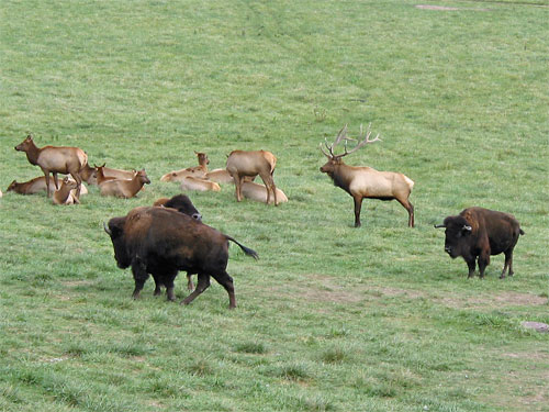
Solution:
[(242, 201), (242, 186), (244, 178), (246, 176), (256, 177), (259, 175), (267, 188), (266, 203), (269, 203), (270, 193), (272, 192), (274, 205), (278, 205), (277, 187), (274, 186), (274, 180), (272, 179), (276, 166), (277, 158), (272, 153), (267, 151), (231, 152), (227, 158), (226, 169), (235, 182), (236, 200), (238, 202)]

